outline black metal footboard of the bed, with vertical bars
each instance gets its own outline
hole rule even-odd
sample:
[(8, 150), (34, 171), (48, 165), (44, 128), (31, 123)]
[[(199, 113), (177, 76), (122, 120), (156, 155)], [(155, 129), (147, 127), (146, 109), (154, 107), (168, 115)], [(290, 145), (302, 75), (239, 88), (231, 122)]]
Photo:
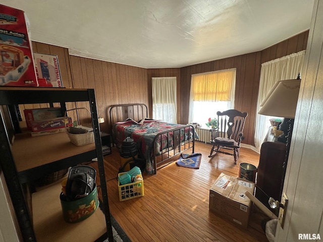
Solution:
[(152, 162), (154, 174), (157, 173), (157, 167), (161, 168), (174, 162), (174, 159), (172, 159), (174, 156), (189, 149), (194, 153), (194, 136), (195, 130), (192, 125), (158, 133), (153, 141)]

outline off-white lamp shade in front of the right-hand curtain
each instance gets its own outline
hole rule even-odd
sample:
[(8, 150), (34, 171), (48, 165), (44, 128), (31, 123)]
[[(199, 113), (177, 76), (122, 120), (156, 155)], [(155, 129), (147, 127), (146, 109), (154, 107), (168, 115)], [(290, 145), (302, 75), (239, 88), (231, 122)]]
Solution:
[(275, 83), (260, 104), (259, 114), (275, 117), (295, 118), (300, 79), (283, 80)]

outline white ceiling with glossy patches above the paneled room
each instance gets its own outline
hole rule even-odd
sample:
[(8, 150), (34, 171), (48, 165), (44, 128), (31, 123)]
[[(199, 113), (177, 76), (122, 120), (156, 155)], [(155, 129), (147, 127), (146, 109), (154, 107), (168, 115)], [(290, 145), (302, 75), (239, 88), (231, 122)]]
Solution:
[(314, 0), (0, 0), (31, 40), (142, 68), (180, 68), (262, 50), (310, 27)]

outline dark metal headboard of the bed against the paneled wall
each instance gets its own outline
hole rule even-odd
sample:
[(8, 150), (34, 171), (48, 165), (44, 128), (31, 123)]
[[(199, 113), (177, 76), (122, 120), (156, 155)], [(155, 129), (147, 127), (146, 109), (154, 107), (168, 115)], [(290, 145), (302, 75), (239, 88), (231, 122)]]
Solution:
[(138, 121), (148, 117), (148, 108), (143, 103), (112, 105), (109, 111), (111, 126), (117, 122), (126, 120), (128, 117)]

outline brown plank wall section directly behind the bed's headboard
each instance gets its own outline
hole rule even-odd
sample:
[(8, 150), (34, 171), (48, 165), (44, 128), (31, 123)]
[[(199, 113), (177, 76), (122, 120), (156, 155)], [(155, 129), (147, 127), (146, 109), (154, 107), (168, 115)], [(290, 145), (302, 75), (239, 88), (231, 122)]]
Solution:
[(101, 131), (110, 133), (111, 105), (121, 103), (148, 105), (147, 69), (73, 55), (70, 56), (70, 61), (74, 88), (95, 90), (98, 115), (105, 120), (100, 125)]

